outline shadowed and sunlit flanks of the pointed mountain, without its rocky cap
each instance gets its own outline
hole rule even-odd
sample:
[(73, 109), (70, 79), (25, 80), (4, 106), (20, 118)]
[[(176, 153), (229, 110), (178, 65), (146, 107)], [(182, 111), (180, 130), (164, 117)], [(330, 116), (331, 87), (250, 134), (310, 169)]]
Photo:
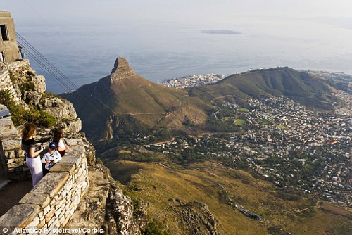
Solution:
[(111, 87), (108, 80), (105, 77), (62, 95), (74, 104), (83, 131), (91, 139), (104, 138), (111, 126), (117, 126), (121, 120), (123, 126), (131, 129), (170, 127), (192, 132), (182, 123), (187, 121), (193, 127), (203, 125), (207, 110), (212, 108), (188, 96), (185, 90), (155, 84), (138, 75), (114, 82)]

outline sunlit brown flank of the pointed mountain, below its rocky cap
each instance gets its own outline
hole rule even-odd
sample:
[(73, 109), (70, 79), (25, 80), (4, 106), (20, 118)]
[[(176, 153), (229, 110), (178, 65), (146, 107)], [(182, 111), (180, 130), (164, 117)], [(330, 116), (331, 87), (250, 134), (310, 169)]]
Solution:
[(113, 104), (115, 112), (142, 113), (134, 118), (149, 127), (182, 129), (185, 118), (195, 125), (206, 121), (204, 110), (209, 106), (187, 96), (185, 90), (158, 85), (139, 76), (116, 82), (112, 89), (118, 96), (118, 103)]

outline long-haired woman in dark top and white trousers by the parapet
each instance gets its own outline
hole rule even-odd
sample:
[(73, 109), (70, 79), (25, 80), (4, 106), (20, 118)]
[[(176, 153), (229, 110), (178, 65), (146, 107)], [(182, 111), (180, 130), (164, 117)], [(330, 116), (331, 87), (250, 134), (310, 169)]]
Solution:
[(44, 148), (38, 146), (33, 139), (36, 129), (36, 125), (27, 123), (22, 130), (22, 149), (25, 151), (25, 160), (28, 168), (30, 168), (30, 174), (32, 174), (33, 186), (43, 177), (42, 161), (39, 158), (39, 153), (42, 153)]

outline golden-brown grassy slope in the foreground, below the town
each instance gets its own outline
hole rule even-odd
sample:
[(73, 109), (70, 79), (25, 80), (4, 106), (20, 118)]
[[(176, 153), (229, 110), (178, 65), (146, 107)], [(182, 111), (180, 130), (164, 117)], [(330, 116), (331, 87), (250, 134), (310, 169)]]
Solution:
[[(175, 212), (176, 199), (184, 203), (194, 200), (206, 203), (218, 220), (220, 234), (270, 234), (273, 224), (293, 234), (344, 234), (352, 231), (351, 212), (344, 210), (343, 214), (337, 207), (334, 208), (341, 215), (331, 212), (331, 208), (323, 210), (316, 206), (313, 198), (280, 193), (279, 188), (268, 182), (218, 163), (184, 168), (115, 161), (107, 166), (115, 179), (130, 180), (127, 184), (129, 193), (147, 201), (148, 214), (161, 221), (172, 234), (186, 234), (180, 225), (181, 218)], [(135, 188), (142, 190), (134, 191)], [(226, 203), (227, 196), (268, 222), (244, 216)], [(170, 198), (174, 201), (170, 202)], [(284, 198), (291, 198), (291, 201)]]

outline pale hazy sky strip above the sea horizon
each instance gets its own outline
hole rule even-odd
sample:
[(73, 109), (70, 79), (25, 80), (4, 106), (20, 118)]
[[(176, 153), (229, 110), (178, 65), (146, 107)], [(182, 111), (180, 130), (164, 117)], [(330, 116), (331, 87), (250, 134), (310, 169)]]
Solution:
[(352, 9), (351, 0), (0, 0), (0, 3), (1, 10), (11, 11), (17, 23), (49, 25), (106, 20), (216, 25), (251, 17), (255, 22), (264, 16), (350, 18)]

